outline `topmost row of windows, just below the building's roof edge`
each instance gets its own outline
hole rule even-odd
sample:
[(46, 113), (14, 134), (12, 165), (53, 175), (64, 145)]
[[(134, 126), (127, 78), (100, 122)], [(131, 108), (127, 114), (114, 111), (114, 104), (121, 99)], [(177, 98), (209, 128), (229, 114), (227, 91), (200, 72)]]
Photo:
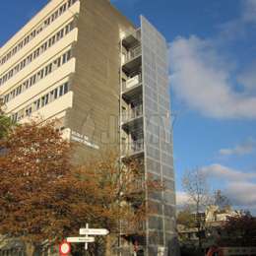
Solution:
[(77, 0), (68, 0), (58, 10), (56, 10), (50, 17), (45, 19), (36, 29), (28, 34), (23, 40), (21, 40), (14, 48), (12, 48), (3, 58), (0, 59), (0, 65), (3, 65), (7, 60), (14, 56), (19, 50), (21, 50), (26, 44), (28, 44), (32, 38), (39, 32), (42, 32), (53, 21), (61, 16), (68, 8), (70, 8)]

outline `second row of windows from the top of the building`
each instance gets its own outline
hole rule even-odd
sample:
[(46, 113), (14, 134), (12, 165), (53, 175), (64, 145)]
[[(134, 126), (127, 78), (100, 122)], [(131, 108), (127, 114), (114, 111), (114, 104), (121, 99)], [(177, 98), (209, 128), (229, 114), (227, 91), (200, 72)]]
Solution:
[(27, 65), (29, 65), (32, 60), (36, 59), (39, 55), (46, 51), (47, 48), (51, 47), (57, 41), (59, 41), (67, 33), (71, 32), (74, 29), (74, 21), (68, 24), (59, 32), (56, 32), (51, 36), (47, 41), (42, 43), (38, 48), (36, 48), (29, 56), (23, 59), (18, 65), (8, 71), (2, 78), (0, 78), (0, 86), (6, 83), (9, 79), (14, 77), (18, 72), (23, 70)]

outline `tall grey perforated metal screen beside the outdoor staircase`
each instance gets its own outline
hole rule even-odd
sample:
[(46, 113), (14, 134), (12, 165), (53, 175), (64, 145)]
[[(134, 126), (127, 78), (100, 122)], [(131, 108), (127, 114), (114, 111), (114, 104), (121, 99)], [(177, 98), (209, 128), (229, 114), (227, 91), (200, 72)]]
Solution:
[(167, 44), (144, 17), (141, 17), (141, 33), (146, 175), (164, 181), (165, 185), (164, 192), (148, 194), (148, 199), (158, 206), (147, 224), (148, 253), (158, 255), (156, 248), (163, 246), (165, 255), (175, 255), (175, 186)]

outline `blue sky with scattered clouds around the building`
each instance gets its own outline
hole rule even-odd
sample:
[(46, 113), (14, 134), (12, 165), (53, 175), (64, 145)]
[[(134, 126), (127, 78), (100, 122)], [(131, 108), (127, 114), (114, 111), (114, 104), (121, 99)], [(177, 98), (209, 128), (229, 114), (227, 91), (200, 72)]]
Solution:
[[(47, 0), (1, 3), (0, 45)], [(182, 176), (200, 168), (211, 189), (256, 215), (256, 0), (112, 0), (168, 43), (177, 203)]]

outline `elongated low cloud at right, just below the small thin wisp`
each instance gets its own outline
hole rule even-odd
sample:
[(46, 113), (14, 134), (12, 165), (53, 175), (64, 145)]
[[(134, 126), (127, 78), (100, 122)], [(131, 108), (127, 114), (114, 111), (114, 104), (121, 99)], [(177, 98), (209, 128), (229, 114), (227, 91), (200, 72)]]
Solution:
[(222, 164), (215, 163), (209, 166), (202, 167), (202, 171), (206, 173), (209, 178), (217, 178), (222, 180), (222, 182), (232, 182), (232, 181), (247, 181), (251, 179), (256, 179), (255, 172), (243, 172), (233, 168), (226, 167)]

